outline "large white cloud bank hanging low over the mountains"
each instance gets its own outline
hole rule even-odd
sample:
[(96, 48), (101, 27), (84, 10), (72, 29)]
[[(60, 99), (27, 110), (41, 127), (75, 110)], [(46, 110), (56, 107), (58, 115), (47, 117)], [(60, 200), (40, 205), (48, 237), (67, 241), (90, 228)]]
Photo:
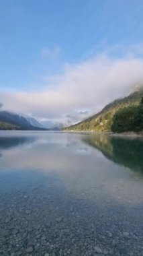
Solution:
[(9, 110), (31, 113), (39, 118), (62, 118), (82, 109), (96, 113), (143, 82), (142, 70), (143, 60), (140, 58), (113, 59), (99, 55), (77, 65), (66, 65), (64, 75), (53, 79), (56, 86), (50, 84), (35, 92), (1, 91), (1, 100)]

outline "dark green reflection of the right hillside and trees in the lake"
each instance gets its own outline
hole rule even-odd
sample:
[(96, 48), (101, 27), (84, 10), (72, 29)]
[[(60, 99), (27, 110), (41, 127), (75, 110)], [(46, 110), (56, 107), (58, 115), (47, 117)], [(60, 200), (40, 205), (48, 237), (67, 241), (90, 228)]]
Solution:
[(142, 138), (113, 137), (99, 133), (85, 137), (83, 141), (100, 150), (109, 160), (143, 172)]

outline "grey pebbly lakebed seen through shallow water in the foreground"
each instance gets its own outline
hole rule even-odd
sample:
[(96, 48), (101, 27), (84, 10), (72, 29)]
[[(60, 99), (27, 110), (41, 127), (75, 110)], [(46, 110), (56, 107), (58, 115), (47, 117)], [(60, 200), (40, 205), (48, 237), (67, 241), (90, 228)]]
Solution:
[(52, 186), (2, 193), (0, 255), (141, 256), (142, 212), (134, 214)]

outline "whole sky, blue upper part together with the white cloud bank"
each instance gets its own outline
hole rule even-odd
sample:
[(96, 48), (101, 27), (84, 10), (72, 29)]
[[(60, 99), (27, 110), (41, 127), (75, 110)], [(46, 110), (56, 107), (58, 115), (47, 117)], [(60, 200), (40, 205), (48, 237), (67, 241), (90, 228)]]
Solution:
[(79, 120), (143, 82), (142, 0), (0, 0), (0, 102)]

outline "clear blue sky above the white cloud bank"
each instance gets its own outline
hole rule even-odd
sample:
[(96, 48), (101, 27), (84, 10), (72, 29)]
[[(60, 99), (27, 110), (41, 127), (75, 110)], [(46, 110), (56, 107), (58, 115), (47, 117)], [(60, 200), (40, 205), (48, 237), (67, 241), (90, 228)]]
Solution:
[(0, 90), (55, 91), (99, 55), (142, 61), (142, 13), (142, 0), (0, 0)]

